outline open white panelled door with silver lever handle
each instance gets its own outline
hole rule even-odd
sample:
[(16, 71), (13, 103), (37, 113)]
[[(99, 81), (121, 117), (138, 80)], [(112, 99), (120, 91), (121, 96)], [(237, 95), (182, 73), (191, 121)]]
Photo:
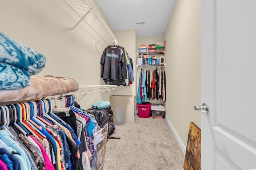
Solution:
[(256, 0), (201, 8), (201, 169), (256, 170)]

